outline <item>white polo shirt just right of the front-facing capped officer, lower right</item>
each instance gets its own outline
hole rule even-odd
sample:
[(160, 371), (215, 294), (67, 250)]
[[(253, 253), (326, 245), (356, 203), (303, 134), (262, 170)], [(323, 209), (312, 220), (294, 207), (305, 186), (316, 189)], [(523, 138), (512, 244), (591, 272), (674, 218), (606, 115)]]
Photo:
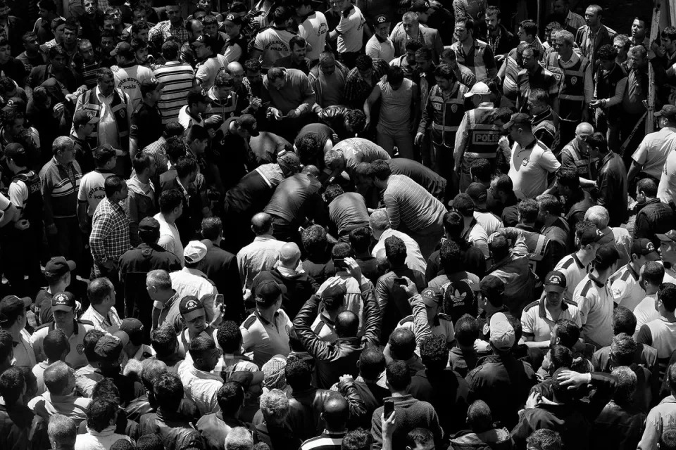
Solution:
[(592, 274), (587, 274), (573, 293), (580, 308), (582, 338), (585, 342), (606, 347), (613, 342), (613, 295), (608, 283), (599, 283)]

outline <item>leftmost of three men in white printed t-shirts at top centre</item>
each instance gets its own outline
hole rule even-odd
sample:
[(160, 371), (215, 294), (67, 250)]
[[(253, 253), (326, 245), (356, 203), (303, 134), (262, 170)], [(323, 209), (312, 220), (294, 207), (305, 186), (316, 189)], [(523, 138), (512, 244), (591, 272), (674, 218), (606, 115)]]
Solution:
[(253, 41), (253, 50), (249, 56), (253, 59), (261, 58), (264, 71), (272, 68), (276, 60), (291, 54), (289, 41), (296, 34), (287, 31), (287, 27), (293, 21), (292, 15), (289, 8), (278, 6), (268, 16), (271, 23), (270, 27), (256, 35), (256, 40)]

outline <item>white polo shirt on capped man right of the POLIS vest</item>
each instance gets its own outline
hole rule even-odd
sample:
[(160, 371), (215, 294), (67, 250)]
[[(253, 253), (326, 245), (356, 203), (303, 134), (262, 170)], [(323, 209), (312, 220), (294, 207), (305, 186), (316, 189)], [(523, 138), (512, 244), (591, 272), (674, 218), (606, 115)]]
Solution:
[(536, 198), (546, 191), (547, 176), (556, 172), (559, 167), (561, 162), (556, 160), (556, 156), (544, 143), (536, 139), (526, 148), (514, 143), (508, 175), (517, 195), (520, 192), (525, 198)]

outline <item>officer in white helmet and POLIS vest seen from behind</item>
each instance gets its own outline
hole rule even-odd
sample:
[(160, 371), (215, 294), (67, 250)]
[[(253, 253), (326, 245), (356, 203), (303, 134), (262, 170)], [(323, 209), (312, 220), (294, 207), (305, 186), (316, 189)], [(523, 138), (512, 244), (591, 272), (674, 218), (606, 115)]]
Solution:
[(495, 171), (500, 139), (500, 129), (493, 123), (494, 91), (488, 84), (479, 82), (472, 86), (465, 98), (470, 99), (474, 109), (463, 115), (453, 149), (454, 170), (460, 176), (461, 192), (465, 192), (472, 183), (472, 161), (485, 158)]

